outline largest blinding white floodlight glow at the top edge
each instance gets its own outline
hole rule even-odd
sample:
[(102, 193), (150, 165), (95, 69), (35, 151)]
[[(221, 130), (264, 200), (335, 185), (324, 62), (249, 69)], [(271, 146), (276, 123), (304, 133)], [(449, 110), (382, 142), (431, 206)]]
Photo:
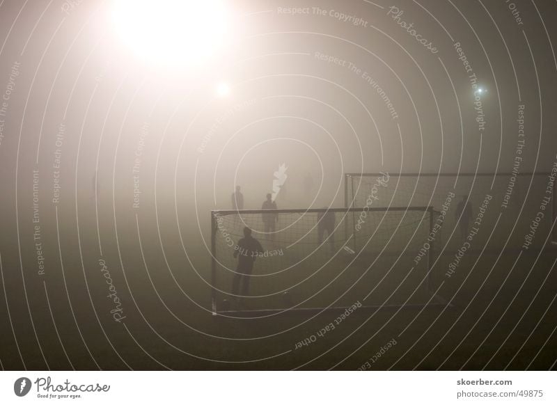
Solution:
[(224, 46), (228, 15), (220, 0), (116, 0), (120, 39), (152, 63), (200, 65)]

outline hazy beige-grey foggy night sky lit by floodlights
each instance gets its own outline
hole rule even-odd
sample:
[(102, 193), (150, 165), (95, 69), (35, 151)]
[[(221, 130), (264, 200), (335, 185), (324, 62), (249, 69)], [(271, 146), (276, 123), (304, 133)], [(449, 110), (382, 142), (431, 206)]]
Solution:
[[(113, 18), (110, 1), (22, 8), (5, 1), (0, 72), (11, 90), (1, 181), (13, 189), (16, 178), (23, 184), (40, 168), (46, 193), (59, 149), (63, 198), (75, 176), (90, 188), (84, 179), (97, 166), (101, 186), (114, 177), (116, 188), (129, 189), (144, 124), (141, 186), (151, 187), (159, 173), (159, 191), (171, 194), (175, 174), (178, 189), (191, 190), (196, 166), (200, 191), (216, 181), (226, 189), (219, 198), (228, 198), (235, 175), (265, 194), (262, 184), (281, 163), (291, 183), (307, 172), (326, 177), (328, 193), (343, 172), (508, 172), (521, 104), (522, 169), (547, 170), (555, 147), (556, 5), (535, 3), (229, 2), (228, 42), (191, 67), (198, 57), (189, 47), (200, 38), (165, 48), (181, 55), (178, 63), (164, 54), (140, 57), (118, 37), (126, 22)], [(199, 19), (202, 31), (219, 32), (216, 17)], [(487, 92), (481, 104), (473, 74)], [(226, 97), (214, 91), (221, 82), (230, 87)]]

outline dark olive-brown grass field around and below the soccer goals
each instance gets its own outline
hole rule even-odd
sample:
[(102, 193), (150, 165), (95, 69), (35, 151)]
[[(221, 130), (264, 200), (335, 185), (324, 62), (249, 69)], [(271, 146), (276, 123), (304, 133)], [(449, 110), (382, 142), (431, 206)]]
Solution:
[[(450, 278), (446, 270), (454, 251), (445, 252), (432, 268), (431, 283), (450, 305), (362, 307), (345, 317), (338, 309), (246, 318), (212, 315), (210, 255), (188, 234), (182, 239), (184, 251), (180, 239), (162, 234), (159, 240), (156, 229), (134, 223), (133, 216), (118, 228), (118, 241), (101, 228), (107, 232), (102, 236), (107, 267), (103, 272), (93, 223), (83, 221), (81, 227), (79, 239), (63, 228), (63, 267), (60, 257), (50, 256), (43, 276), (38, 276), (33, 256), (26, 251), (33, 246), (22, 244), (24, 271), (13, 256), (3, 255), (4, 369), (356, 370), (366, 361), (372, 370), (556, 367), (557, 254), (549, 247), (501, 254), (472, 250)], [(56, 238), (45, 244), (49, 252), (58, 251)], [(311, 285), (319, 289), (338, 276), (338, 269), (345, 268), (345, 273), (308, 306), (331, 305), (339, 285), (352, 285), (371, 259), (361, 255), (350, 264), (350, 257), (334, 258)], [(334, 305), (366, 304), (364, 294), (384, 276), (389, 260), (392, 263), (385, 256), (376, 262), (368, 276)], [(404, 269), (412, 257), (402, 255), (401, 260), (404, 263), (393, 267), (397, 281), (384, 280), (370, 299), (372, 304), (392, 303), (384, 300), (389, 285), (398, 285), (406, 276)], [(300, 269), (311, 273), (314, 264)], [(104, 276), (107, 271), (114, 291)], [(277, 283), (254, 283), (253, 292), (271, 287), (281, 290)], [(119, 307), (109, 298), (111, 292), (118, 296)], [(302, 296), (292, 292), (291, 298)], [(395, 297), (400, 303), (405, 292)], [(261, 308), (261, 303), (248, 305)], [(125, 317), (120, 321), (111, 313), (116, 308)], [(327, 330), (330, 324), (334, 328)], [(306, 344), (300, 344), (304, 340)], [(392, 340), (396, 344), (371, 363), (370, 358)]]

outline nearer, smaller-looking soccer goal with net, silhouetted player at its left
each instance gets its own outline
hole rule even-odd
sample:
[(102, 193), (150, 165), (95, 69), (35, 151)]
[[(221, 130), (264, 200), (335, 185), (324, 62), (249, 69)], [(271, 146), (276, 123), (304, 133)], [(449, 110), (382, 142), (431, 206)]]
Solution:
[[(427, 243), (438, 214), (365, 205), (212, 211), (213, 314), (444, 305), (430, 272), (434, 241)], [(261, 246), (255, 254), (239, 243), (246, 227)], [(246, 293), (233, 292), (242, 254), (256, 256), (242, 279)]]

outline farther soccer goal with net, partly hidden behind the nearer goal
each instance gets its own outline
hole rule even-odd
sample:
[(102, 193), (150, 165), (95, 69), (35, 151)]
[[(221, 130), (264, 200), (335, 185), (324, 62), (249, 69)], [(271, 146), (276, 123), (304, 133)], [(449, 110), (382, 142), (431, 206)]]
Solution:
[[(533, 250), (547, 241), (555, 221), (551, 173), (346, 173), (345, 207), (431, 205), (445, 211), (438, 248), (450, 253), (462, 246), (462, 199), (469, 202), (472, 250)], [(372, 196), (372, 197), (370, 197)], [(541, 215), (540, 215), (541, 213)], [(476, 222), (477, 220), (477, 222)], [(531, 231), (531, 226), (535, 231)], [(549, 235), (557, 240), (557, 232)]]

